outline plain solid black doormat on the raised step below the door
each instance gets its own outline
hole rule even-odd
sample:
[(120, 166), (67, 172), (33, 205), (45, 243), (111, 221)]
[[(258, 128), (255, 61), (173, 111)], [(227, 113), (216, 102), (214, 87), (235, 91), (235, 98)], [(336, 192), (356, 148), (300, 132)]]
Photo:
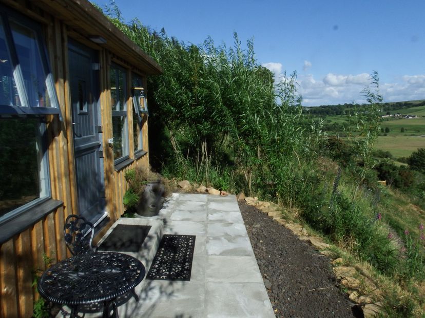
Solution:
[(140, 251), (150, 230), (150, 225), (127, 225), (118, 224), (110, 232), (98, 250), (109, 250), (114, 252)]

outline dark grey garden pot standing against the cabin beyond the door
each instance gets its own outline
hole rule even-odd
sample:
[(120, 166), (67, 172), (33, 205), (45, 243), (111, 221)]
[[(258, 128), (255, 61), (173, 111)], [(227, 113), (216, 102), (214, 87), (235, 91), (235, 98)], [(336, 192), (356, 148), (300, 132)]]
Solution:
[(153, 217), (158, 215), (164, 203), (164, 185), (160, 181), (148, 182), (136, 207), (137, 214), (142, 217)]

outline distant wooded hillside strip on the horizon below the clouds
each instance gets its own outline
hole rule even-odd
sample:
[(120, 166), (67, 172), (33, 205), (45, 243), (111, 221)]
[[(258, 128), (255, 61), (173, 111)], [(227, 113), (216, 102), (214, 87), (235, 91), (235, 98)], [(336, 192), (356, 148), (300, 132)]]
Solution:
[[(422, 115), (423, 109), (425, 107), (425, 99), (419, 100), (407, 100), (407, 101), (394, 101), (394, 102), (385, 102), (381, 103), (383, 113), (394, 113), (398, 112), (401, 114), (414, 114)], [(344, 115), (347, 110), (354, 108), (366, 107), (365, 104), (352, 104), (345, 103), (343, 105), (321, 105), (318, 107), (305, 107), (304, 109), (312, 115)], [(416, 109), (418, 108), (418, 109)], [(422, 115), (423, 116), (423, 115)]]

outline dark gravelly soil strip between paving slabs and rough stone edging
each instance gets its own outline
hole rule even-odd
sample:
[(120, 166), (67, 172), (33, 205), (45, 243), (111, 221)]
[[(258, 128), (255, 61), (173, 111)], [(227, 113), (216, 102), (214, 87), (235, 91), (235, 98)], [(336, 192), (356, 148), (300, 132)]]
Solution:
[(245, 201), (239, 207), (276, 317), (353, 317), (329, 258)]

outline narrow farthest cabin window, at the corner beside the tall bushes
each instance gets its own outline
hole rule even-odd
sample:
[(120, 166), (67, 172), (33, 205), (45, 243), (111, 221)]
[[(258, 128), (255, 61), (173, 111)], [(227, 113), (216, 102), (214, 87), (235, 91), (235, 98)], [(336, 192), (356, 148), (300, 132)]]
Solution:
[(133, 141), (134, 153), (143, 150), (143, 116), (147, 114), (146, 98), (143, 91), (143, 80), (137, 74), (132, 75), (132, 94), (133, 94)]

